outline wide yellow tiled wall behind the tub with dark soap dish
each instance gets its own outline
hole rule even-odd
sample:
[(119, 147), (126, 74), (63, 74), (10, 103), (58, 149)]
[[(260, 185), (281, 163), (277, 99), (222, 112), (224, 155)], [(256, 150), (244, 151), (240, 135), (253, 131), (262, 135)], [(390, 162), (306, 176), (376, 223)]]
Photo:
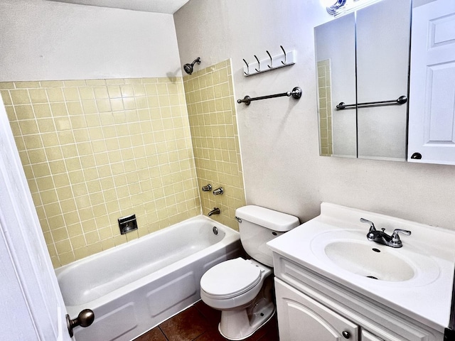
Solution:
[[(55, 267), (200, 214), (180, 77), (0, 92)], [(130, 214), (139, 229), (121, 235), (117, 219)]]

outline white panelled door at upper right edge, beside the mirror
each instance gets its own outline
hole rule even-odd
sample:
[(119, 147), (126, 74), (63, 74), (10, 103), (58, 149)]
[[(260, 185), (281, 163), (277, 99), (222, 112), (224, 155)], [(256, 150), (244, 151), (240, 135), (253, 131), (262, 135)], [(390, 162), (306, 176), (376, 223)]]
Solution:
[(408, 161), (455, 164), (455, 1), (412, 9)]

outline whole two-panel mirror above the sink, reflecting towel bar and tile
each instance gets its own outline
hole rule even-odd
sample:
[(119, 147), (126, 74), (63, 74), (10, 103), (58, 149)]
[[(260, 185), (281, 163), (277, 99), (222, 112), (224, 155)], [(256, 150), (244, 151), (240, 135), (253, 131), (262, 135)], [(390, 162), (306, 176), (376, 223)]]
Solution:
[(314, 29), (321, 156), (406, 160), (410, 17), (384, 0)]

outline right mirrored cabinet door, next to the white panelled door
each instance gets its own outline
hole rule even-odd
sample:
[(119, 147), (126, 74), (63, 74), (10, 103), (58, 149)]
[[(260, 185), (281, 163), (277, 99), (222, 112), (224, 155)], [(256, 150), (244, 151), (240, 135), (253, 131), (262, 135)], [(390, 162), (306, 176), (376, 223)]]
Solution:
[(407, 96), (411, 3), (383, 0), (356, 13), (358, 158), (405, 161), (407, 104), (360, 104)]

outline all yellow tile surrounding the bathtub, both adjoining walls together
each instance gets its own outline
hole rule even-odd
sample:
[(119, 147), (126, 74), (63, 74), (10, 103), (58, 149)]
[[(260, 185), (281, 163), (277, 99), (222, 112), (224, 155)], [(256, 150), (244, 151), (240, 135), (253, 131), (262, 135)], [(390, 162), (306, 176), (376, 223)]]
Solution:
[[(0, 83), (54, 266), (198, 215), (201, 200), (203, 213), (218, 205), (215, 220), (237, 229), (245, 193), (231, 74), (228, 60), (184, 86), (180, 78)], [(207, 182), (225, 194), (199, 193)], [(117, 219), (132, 212), (139, 232), (121, 236)]]

